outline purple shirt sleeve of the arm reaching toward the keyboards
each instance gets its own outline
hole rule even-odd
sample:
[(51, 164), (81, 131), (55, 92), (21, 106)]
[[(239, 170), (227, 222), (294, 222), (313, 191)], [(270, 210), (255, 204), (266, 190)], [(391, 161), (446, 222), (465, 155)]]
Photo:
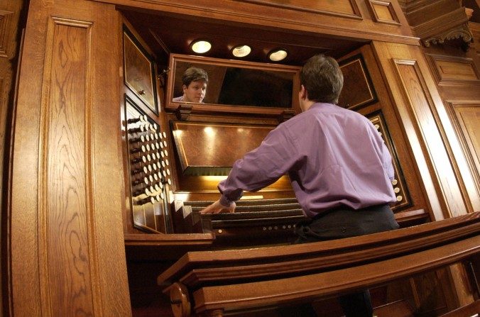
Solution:
[(288, 129), (278, 126), (268, 133), (258, 148), (237, 160), (229, 177), (219, 183), (220, 204), (229, 206), (232, 201), (240, 199), (243, 191), (258, 191), (276, 182), (300, 158)]

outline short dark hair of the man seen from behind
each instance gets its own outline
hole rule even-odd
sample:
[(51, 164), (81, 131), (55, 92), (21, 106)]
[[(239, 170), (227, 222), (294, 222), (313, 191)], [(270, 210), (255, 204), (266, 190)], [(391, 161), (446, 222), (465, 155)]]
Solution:
[(300, 84), (311, 101), (337, 104), (344, 76), (336, 60), (320, 54), (310, 57), (302, 67)]

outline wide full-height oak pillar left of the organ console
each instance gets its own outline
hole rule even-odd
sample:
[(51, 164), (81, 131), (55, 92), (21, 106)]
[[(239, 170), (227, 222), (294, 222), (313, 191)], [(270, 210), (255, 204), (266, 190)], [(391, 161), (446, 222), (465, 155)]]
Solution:
[(119, 13), (82, 0), (31, 0), (29, 10), (11, 179), (13, 315), (130, 316), (111, 119)]

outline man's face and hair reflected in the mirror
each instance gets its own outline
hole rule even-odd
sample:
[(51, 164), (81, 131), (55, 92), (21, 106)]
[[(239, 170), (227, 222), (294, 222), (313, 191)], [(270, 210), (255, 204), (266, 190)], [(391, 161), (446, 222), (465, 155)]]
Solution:
[(208, 74), (204, 69), (189, 67), (182, 75), (183, 96), (173, 101), (202, 103), (207, 93)]

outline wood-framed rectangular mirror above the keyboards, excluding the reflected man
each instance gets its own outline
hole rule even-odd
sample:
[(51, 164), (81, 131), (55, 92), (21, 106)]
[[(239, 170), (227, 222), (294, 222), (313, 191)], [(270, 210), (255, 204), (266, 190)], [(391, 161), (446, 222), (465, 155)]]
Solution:
[[(183, 96), (182, 75), (188, 67), (204, 69), (208, 74), (202, 104), (173, 101)], [(166, 106), (177, 109), (179, 104), (190, 104), (206, 111), (229, 111), (233, 107), (235, 112), (242, 107), (297, 110), (299, 72), (300, 67), (295, 66), (171, 54)]]

